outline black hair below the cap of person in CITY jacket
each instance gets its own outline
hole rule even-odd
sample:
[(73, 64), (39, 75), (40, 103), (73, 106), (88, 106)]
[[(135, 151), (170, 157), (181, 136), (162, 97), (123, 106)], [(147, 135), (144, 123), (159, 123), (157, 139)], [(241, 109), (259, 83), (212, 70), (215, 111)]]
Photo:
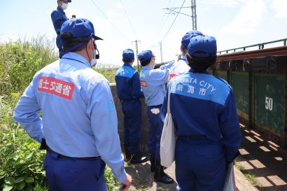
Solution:
[(186, 54), (188, 59), (188, 66), (190, 66), (195, 72), (206, 71), (210, 66), (216, 63), (216, 55), (209, 57), (191, 57), (188, 53)]

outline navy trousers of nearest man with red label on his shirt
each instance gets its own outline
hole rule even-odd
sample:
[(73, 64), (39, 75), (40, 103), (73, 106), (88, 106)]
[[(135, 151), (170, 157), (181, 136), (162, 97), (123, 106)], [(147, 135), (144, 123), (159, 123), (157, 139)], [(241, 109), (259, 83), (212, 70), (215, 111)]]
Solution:
[(47, 152), (44, 169), (50, 191), (107, 191), (101, 160), (62, 159)]

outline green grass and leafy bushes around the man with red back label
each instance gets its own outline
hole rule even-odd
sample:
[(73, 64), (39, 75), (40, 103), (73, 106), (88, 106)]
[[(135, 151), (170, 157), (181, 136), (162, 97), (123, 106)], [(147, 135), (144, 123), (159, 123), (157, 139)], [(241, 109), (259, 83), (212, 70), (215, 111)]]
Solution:
[[(53, 44), (45, 36), (0, 43), (0, 190), (48, 191), (45, 151), (13, 120), (13, 109), (36, 71), (57, 60)], [(109, 167), (105, 178), (109, 190), (118, 188)]]

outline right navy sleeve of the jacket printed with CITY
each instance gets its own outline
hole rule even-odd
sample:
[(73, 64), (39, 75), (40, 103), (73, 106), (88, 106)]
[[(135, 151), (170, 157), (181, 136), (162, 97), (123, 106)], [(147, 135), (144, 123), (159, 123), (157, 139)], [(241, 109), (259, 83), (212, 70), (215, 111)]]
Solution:
[(235, 106), (235, 99), (231, 90), (218, 120), (222, 134), (221, 143), (223, 144), (225, 150), (225, 160), (227, 163), (230, 163), (239, 155), (238, 148), (242, 139)]

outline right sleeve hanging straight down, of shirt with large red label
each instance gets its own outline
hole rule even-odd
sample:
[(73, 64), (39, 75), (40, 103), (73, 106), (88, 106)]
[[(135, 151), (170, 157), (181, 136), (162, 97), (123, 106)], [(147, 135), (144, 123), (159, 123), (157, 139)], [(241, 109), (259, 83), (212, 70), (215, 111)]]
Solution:
[(105, 80), (95, 85), (90, 101), (87, 103), (87, 113), (90, 114), (95, 145), (102, 160), (120, 183), (127, 178), (125, 160), (120, 149), (118, 136), (118, 118), (109, 83)]

